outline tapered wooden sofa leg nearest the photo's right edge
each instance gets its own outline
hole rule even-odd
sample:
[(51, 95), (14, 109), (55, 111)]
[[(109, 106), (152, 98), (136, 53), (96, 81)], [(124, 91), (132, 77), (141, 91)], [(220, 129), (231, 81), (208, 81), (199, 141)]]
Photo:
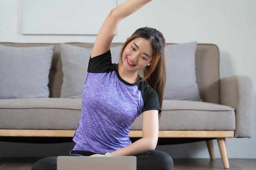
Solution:
[(220, 156), (222, 159), (222, 163), (224, 168), (229, 169), (229, 157), (227, 155), (227, 144), (225, 138), (217, 138), (218, 146), (220, 149)]

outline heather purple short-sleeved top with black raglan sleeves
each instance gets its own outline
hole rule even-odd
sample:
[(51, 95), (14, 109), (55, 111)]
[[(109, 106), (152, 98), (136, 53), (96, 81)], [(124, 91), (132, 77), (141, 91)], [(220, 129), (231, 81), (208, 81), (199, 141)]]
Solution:
[(124, 81), (110, 51), (90, 59), (73, 150), (105, 154), (130, 145), (131, 124), (146, 110), (161, 112), (153, 88)]

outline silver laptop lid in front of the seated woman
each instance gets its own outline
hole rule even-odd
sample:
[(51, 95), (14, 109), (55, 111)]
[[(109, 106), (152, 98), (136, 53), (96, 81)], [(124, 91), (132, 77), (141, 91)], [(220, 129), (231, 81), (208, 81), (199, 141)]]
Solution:
[(57, 157), (57, 170), (136, 170), (135, 156), (120, 157)]

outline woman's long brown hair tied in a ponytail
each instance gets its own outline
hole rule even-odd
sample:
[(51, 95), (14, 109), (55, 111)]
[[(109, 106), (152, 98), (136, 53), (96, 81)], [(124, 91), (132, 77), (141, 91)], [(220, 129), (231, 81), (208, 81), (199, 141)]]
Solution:
[[(164, 87), (166, 84), (166, 63), (165, 63), (165, 39), (160, 31), (155, 28), (143, 27), (137, 29), (132, 36), (124, 43), (121, 50), (120, 61), (122, 61), (122, 55), (125, 47), (135, 38), (144, 38), (151, 42), (153, 49), (153, 57), (150, 61), (150, 65), (146, 66), (143, 72), (143, 80), (145, 80), (155, 91), (157, 92), (159, 104), (162, 108)], [(159, 114), (160, 119), (161, 114)]]

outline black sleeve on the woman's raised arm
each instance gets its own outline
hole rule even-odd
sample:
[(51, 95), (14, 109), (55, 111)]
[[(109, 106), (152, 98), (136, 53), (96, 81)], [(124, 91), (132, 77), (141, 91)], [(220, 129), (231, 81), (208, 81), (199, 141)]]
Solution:
[(112, 70), (112, 61), (110, 50), (99, 56), (90, 58), (88, 72), (104, 73)]

